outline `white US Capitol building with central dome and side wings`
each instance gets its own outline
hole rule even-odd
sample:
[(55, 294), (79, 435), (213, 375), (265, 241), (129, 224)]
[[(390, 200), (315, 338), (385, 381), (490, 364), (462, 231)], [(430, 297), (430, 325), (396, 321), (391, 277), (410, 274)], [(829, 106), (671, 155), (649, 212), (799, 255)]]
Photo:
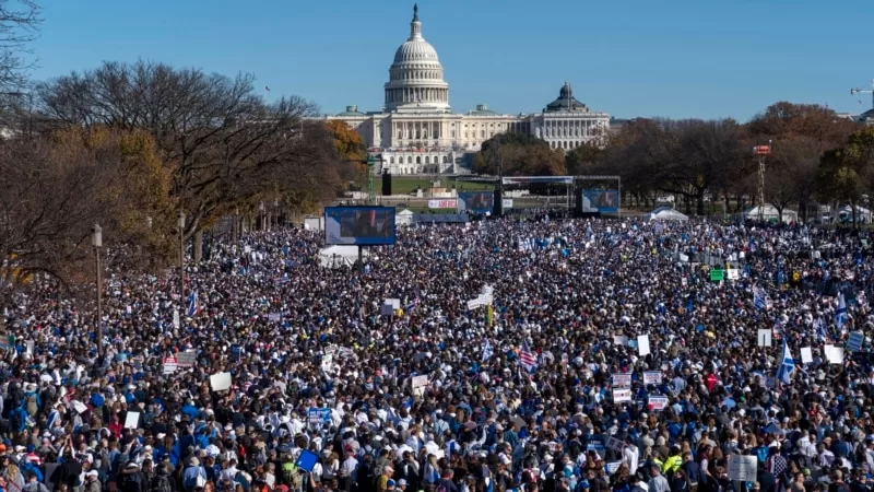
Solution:
[(571, 150), (593, 140), (600, 142), (610, 129), (610, 115), (589, 110), (574, 98), (568, 83), (539, 114), (504, 115), (484, 104), (466, 114), (452, 113), (444, 67), (422, 36), (415, 5), (410, 38), (394, 52), (385, 92), (380, 113), (361, 113), (357, 106), (346, 106), (339, 115), (323, 117), (346, 122), (361, 134), (370, 155), (381, 156), (375, 173), (463, 173), (465, 154), (477, 152), (484, 141), (506, 131), (529, 133), (553, 149)]

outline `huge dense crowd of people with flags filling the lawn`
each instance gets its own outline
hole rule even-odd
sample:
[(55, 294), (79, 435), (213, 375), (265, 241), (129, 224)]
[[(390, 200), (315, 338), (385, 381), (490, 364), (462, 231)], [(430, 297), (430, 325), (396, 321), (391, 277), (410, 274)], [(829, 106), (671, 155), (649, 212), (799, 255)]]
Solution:
[[(867, 233), (689, 221), (214, 242), (10, 293), (2, 492), (874, 490)], [(332, 263), (332, 266), (335, 263)], [(727, 268), (729, 267), (729, 268)]]

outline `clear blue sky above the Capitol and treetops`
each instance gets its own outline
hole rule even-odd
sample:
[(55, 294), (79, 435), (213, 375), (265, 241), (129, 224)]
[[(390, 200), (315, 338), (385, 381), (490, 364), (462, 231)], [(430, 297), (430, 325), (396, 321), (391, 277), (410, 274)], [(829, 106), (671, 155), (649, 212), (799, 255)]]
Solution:
[[(43, 0), (33, 77), (144, 58), (255, 73), (269, 97), (377, 110), (413, 1)], [(565, 80), (617, 117), (742, 120), (788, 99), (860, 112), (874, 4), (857, 0), (423, 0), (450, 104), (530, 113)], [(860, 105), (862, 99), (864, 106)]]

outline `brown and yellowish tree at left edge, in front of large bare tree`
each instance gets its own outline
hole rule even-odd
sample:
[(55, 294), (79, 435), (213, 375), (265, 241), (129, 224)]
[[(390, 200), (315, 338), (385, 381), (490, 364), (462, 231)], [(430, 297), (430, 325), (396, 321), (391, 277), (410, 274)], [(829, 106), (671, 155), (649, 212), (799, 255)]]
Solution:
[(166, 255), (174, 224), (168, 187), (146, 132), (70, 128), (2, 141), (3, 283), (35, 274), (67, 285), (87, 280), (95, 223), (105, 231), (105, 246), (123, 253), (117, 256), (129, 271), (143, 267), (138, 260)]

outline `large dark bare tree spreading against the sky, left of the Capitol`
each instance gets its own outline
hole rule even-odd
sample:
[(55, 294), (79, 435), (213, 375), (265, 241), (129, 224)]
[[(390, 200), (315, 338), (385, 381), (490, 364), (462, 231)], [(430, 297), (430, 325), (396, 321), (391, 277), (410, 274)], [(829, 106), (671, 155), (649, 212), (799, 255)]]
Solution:
[[(332, 154), (310, 138), (326, 133), (306, 120), (316, 107), (298, 97), (268, 105), (253, 80), (145, 61), (107, 62), (42, 84), (38, 96), (42, 110), (61, 121), (147, 129), (173, 169), (173, 194), (190, 218), (190, 236), (247, 200), (297, 191), (302, 179), (324, 186), (318, 171)], [(296, 179), (281, 179), (295, 172)]]

